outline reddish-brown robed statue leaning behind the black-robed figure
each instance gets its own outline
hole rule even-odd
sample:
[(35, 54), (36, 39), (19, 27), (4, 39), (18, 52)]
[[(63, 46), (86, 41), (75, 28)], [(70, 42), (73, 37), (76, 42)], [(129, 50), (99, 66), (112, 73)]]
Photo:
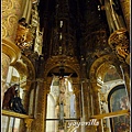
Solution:
[(16, 84), (11, 86), (6, 92), (4, 92), (4, 98), (3, 98), (3, 103), (2, 103), (2, 109), (10, 110), (10, 101), (15, 95), (15, 88)]

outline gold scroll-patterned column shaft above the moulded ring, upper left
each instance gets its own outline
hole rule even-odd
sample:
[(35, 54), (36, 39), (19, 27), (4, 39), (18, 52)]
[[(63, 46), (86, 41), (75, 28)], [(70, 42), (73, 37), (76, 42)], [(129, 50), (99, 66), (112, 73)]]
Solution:
[(14, 42), (18, 18), (21, 13), (21, 0), (3, 0), (2, 1), (2, 37)]

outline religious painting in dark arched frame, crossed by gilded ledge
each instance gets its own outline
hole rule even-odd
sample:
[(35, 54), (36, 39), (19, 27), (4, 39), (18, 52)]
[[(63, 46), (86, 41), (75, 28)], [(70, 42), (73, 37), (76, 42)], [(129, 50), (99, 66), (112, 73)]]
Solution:
[[(129, 109), (129, 98), (124, 85), (114, 87), (109, 94), (110, 112)], [(129, 132), (129, 116), (120, 116), (110, 119), (112, 132)]]

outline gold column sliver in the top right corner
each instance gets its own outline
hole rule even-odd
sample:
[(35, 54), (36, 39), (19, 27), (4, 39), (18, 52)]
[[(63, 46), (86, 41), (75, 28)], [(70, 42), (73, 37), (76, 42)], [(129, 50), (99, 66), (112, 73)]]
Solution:
[(120, 0), (123, 16), (127, 23), (128, 31), (130, 33), (130, 0)]

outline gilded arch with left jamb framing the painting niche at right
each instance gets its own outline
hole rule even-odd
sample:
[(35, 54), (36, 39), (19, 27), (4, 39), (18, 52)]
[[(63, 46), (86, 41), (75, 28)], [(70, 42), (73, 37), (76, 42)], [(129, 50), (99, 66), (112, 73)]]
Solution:
[[(121, 72), (120, 67), (119, 67), (120, 64), (118, 63), (117, 57), (112, 54), (101, 56), (100, 58), (96, 59), (90, 67), (89, 82), (90, 82), (90, 92), (91, 92), (92, 98), (95, 99), (95, 100), (92, 100), (92, 103), (95, 106), (94, 107), (95, 114), (100, 114), (100, 112), (101, 112), (99, 109), (100, 108), (99, 107), (99, 103), (100, 103), (99, 91), (101, 89), (102, 84), (99, 84), (99, 81), (97, 79), (98, 79), (99, 74), (101, 74), (101, 78), (105, 77), (103, 73), (107, 72), (108, 66), (110, 66), (110, 65), (116, 66), (116, 68), (118, 68), (118, 72)], [(101, 70), (102, 70), (101, 67), (105, 68), (102, 73), (101, 73)]]

